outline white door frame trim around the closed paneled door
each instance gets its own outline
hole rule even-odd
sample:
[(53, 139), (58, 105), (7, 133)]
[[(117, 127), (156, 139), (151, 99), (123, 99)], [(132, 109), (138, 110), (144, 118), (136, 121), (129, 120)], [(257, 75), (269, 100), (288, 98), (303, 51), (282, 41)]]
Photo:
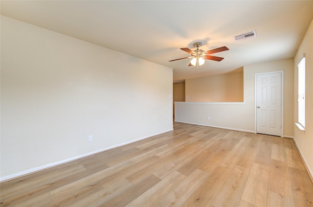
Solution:
[(281, 132), (280, 132), (280, 137), (284, 137), (284, 70), (279, 70), (279, 71), (272, 71), (272, 72), (261, 72), (261, 73), (255, 73), (254, 74), (254, 134), (256, 134), (256, 112), (257, 112), (257, 75), (266, 75), (266, 74), (271, 74), (271, 73), (281, 73)]

